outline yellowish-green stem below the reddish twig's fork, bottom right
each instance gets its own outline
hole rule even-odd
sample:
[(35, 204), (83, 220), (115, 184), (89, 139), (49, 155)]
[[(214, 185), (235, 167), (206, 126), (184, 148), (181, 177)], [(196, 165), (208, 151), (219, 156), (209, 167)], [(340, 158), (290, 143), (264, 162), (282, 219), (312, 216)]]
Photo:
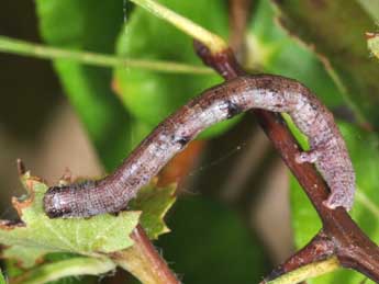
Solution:
[(339, 269), (339, 262), (336, 257), (330, 258), (324, 261), (314, 262), (294, 271), (288, 272), (269, 282), (263, 282), (265, 284), (297, 284), (308, 279), (320, 276), (328, 272)]

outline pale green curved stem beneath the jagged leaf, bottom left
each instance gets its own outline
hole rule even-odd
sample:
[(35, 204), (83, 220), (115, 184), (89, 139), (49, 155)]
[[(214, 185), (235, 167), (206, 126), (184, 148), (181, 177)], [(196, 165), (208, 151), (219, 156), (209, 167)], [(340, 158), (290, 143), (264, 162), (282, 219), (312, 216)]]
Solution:
[(74, 258), (38, 266), (11, 280), (10, 284), (42, 284), (65, 276), (100, 275), (114, 269), (114, 262), (105, 258)]

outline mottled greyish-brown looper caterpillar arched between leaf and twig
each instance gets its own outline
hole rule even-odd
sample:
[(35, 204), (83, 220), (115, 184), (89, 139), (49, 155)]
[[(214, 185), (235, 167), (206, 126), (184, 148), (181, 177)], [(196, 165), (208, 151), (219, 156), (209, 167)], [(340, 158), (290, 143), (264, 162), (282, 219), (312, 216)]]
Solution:
[(330, 208), (350, 209), (355, 173), (332, 113), (298, 81), (279, 76), (239, 77), (204, 91), (160, 123), (114, 173), (97, 182), (51, 188), (51, 218), (89, 217), (124, 209), (138, 190), (204, 128), (249, 109), (287, 112), (310, 140), (298, 162), (314, 162), (331, 188)]

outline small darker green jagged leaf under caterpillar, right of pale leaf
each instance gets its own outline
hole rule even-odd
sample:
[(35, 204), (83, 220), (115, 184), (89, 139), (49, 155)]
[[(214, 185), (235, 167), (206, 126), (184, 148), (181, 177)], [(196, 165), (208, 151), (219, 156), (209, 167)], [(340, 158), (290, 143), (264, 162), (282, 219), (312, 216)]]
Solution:
[(131, 201), (130, 208), (142, 212), (140, 223), (149, 239), (157, 239), (169, 231), (163, 218), (176, 201), (176, 184), (159, 188), (153, 181), (138, 192), (137, 198)]

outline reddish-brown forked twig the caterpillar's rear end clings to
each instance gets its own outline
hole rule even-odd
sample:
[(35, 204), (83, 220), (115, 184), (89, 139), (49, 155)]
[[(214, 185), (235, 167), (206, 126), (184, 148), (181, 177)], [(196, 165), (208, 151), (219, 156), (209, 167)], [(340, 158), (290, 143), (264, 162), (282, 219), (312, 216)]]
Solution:
[[(225, 80), (246, 73), (231, 49), (212, 55), (199, 42), (194, 42), (194, 49), (203, 63), (218, 71)], [(260, 110), (252, 112), (302, 185), (323, 224), (317, 236), (275, 270), (264, 283), (304, 264), (332, 255), (337, 257), (342, 266), (359, 271), (372, 281), (379, 282), (379, 248), (364, 234), (344, 208), (330, 209), (323, 206), (322, 202), (327, 198), (330, 190), (312, 164), (296, 162), (294, 157), (300, 146), (281, 116)]]

